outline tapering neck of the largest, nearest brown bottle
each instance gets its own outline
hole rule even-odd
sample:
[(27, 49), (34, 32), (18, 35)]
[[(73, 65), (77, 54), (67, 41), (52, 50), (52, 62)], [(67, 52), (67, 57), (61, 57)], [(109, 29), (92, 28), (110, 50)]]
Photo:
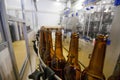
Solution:
[(106, 40), (96, 39), (95, 47), (89, 64), (89, 70), (94, 73), (102, 73), (106, 51)]

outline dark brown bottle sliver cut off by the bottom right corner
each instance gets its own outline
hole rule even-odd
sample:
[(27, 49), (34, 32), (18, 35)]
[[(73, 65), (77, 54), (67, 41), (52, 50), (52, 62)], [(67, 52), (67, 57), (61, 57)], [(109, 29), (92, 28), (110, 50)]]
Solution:
[(115, 70), (113, 72), (113, 75), (111, 75), (108, 80), (120, 80), (120, 55), (118, 57), (118, 61), (115, 67)]

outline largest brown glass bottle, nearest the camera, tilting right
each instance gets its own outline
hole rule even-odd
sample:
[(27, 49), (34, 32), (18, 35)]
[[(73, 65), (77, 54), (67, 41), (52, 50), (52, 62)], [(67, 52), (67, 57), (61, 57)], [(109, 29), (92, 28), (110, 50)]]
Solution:
[(81, 80), (105, 80), (103, 65), (107, 37), (98, 35), (89, 66), (82, 72)]

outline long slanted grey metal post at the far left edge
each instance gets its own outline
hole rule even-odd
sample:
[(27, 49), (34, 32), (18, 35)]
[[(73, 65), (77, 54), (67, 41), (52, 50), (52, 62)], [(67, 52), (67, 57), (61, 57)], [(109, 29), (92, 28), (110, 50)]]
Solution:
[(11, 62), (12, 62), (12, 67), (13, 67), (13, 71), (15, 74), (15, 78), (16, 78), (16, 80), (20, 80), (19, 72), (18, 72), (18, 68), (17, 68), (15, 56), (14, 56), (14, 51), (13, 51), (13, 47), (12, 47), (12, 41), (11, 41), (10, 31), (9, 31), (8, 22), (7, 22), (8, 20), (7, 20), (4, 0), (0, 0), (0, 11), (1, 11), (1, 15), (2, 15), (1, 16), (2, 23), (4, 26), (3, 31), (4, 31), (5, 39), (8, 42), (8, 48), (9, 48), (9, 52), (10, 52), (10, 57), (11, 57)]

